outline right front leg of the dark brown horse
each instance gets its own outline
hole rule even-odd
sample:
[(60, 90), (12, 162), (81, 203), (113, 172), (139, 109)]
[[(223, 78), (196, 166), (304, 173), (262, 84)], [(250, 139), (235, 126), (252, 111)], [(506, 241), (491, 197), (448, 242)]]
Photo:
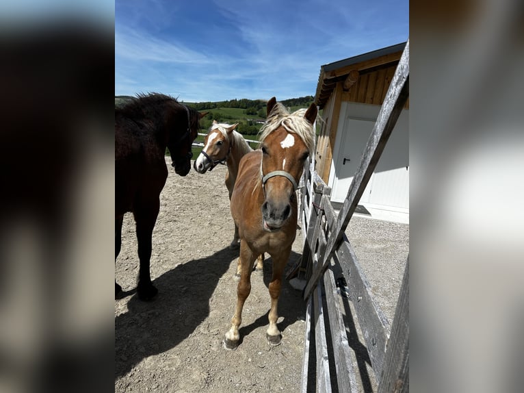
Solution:
[(135, 212), (136, 236), (138, 241), (138, 258), (140, 270), (138, 273), (137, 294), (140, 300), (149, 301), (158, 293), (151, 283), (150, 258), (152, 249), (153, 228), (157, 222), (160, 201), (157, 200), (145, 210)]

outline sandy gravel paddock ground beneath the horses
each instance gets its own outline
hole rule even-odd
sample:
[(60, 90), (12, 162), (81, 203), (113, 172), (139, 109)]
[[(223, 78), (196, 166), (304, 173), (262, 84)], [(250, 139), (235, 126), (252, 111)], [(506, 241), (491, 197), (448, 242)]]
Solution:
[[(233, 220), (224, 186), (226, 167), (205, 175), (191, 170), (186, 177), (168, 168), (153, 231), (151, 279), (159, 294), (152, 302), (144, 303), (135, 294), (138, 258), (130, 214), (122, 228), (115, 277), (125, 296), (115, 301), (115, 391), (298, 392), (306, 310), (301, 293), (283, 280), (278, 305), (282, 344), (270, 346), (265, 331), (271, 259), (266, 256), (263, 273), (252, 274), (239, 347), (222, 348), (235, 305), (238, 256), (238, 251), (229, 249)], [(401, 229), (404, 239), (408, 227)], [(301, 253), (299, 229), (287, 269)], [(402, 279), (405, 259), (397, 259), (398, 272), (388, 278), (385, 303), (396, 299)], [(377, 285), (380, 292), (381, 284)], [(389, 307), (384, 312), (391, 320), (395, 304)]]

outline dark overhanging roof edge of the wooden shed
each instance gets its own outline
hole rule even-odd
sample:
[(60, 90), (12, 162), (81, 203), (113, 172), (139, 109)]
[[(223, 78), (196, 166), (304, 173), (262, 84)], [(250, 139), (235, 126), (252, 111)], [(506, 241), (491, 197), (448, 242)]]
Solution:
[(337, 86), (337, 82), (348, 79), (352, 71), (357, 71), (358, 75), (362, 75), (378, 68), (396, 66), (405, 46), (406, 42), (402, 42), (397, 45), (391, 45), (391, 47), (324, 64), (324, 66), (320, 67), (315, 103), (322, 109), (335, 86)]

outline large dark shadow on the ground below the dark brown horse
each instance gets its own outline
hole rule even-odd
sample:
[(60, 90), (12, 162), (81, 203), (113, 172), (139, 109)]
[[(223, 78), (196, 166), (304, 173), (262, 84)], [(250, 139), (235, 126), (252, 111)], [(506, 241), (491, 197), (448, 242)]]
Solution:
[(185, 340), (209, 316), (209, 299), (237, 257), (225, 248), (179, 264), (154, 280), (159, 293), (153, 302), (133, 294), (129, 311), (115, 318), (115, 378)]

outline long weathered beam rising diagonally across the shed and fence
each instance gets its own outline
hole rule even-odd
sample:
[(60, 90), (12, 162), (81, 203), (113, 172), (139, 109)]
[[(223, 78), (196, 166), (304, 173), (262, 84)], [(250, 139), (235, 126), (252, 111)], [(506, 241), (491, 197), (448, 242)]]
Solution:
[(356, 205), (362, 197), (367, 182), (373, 174), (380, 155), (382, 155), (382, 151), (391, 135), (391, 131), (393, 131), (393, 127), (395, 127), (397, 118), (402, 112), (404, 103), (406, 103), (406, 99), (409, 95), (408, 78), (409, 41), (406, 43), (404, 53), (402, 53), (402, 57), (400, 58), (393, 81), (391, 81), (391, 84), (389, 85), (386, 100), (380, 108), (377, 121), (371, 132), (371, 136), (367, 141), (365, 152), (353, 177), (348, 194), (345, 197), (344, 204), (338, 216), (337, 228), (334, 229), (332, 236), (329, 238), (326, 253), (323, 255), (322, 269), (317, 270), (317, 272), (315, 272), (316, 274), (311, 277), (311, 280), (306, 285), (304, 290), (304, 296), (306, 298), (311, 294), (320, 275), (322, 275), (328, 266), (331, 254), (340, 244), (343, 233), (356, 209)]

